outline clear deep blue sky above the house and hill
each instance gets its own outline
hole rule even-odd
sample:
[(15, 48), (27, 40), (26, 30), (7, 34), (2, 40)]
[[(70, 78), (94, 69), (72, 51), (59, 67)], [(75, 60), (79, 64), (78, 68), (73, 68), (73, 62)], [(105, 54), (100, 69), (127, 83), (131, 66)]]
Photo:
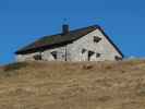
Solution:
[(71, 28), (100, 25), (125, 57), (145, 56), (144, 0), (0, 0), (0, 64), (17, 48)]

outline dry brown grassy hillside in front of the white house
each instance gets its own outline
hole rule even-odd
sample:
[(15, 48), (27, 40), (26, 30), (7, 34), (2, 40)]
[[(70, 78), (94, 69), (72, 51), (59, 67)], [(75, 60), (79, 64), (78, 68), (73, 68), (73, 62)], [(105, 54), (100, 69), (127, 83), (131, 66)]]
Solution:
[(145, 109), (145, 61), (1, 66), (0, 109)]

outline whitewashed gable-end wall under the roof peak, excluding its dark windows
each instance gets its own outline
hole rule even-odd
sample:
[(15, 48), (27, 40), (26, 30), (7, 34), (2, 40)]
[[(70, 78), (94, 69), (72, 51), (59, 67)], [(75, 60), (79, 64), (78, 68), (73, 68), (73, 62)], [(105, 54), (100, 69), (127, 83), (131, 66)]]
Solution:
[[(94, 36), (98, 36), (101, 38), (99, 43), (94, 43)], [(105, 61), (105, 60), (114, 60), (114, 57), (118, 56), (120, 58), (121, 55), (113, 48), (113, 46), (108, 41), (108, 39), (104, 36), (104, 34), (96, 29), (86, 36), (80, 38), (74, 41), (72, 45), (72, 61), (87, 61), (87, 52), (82, 55), (82, 49), (92, 50), (96, 53), (101, 53), (99, 58), (93, 56), (90, 61)]]

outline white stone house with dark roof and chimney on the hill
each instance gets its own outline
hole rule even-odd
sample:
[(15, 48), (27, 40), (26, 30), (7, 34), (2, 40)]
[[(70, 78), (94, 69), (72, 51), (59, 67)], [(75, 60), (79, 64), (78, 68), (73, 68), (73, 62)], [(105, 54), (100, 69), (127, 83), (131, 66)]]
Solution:
[(17, 50), (17, 61), (105, 61), (122, 60), (123, 55), (98, 25), (45, 36)]

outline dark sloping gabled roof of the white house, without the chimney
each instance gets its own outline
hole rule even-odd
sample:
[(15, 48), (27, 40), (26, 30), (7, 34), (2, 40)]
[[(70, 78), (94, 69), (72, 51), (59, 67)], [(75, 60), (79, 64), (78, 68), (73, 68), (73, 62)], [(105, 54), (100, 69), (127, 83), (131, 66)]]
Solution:
[(101, 29), (100, 26), (98, 25), (93, 25), (88, 27), (83, 27), (78, 28), (75, 31), (70, 31), (67, 34), (57, 34), (57, 35), (51, 35), (51, 36), (44, 36), (43, 38), (34, 41), (33, 44), (17, 50), (15, 53), (16, 55), (25, 55), (25, 53), (31, 53), (35, 51), (43, 51), (45, 49), (49, 48), (55, 48), (55, 47), (60, 47), (64, 46), (67, 44), (70, 44), (88, 33), (92, 33), (95, 29), (100, 29), (101, 33), (105, 35), (105, 37), (110, 41), (110, 44), (116, 48), (116, 50), (123, 57), (122, 52), (119, 50), (119, 48), (111, 41), (111, 39), (105, 34), (105, 32)]

